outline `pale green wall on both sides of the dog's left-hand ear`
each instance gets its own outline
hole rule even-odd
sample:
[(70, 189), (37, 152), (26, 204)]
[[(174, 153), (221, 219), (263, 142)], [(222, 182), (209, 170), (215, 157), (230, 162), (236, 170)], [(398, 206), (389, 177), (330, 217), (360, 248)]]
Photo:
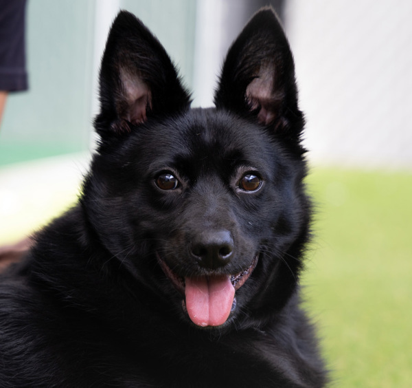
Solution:
[[(9, 95), (0, 129), (0, 165), (89, 149), (93, 79), (98, 76), (93, 72), (97, 1), (27, 2), (29, 90)], [(191, 87), (196, 1), (113, 4), (135, 13), (155, 32)]]

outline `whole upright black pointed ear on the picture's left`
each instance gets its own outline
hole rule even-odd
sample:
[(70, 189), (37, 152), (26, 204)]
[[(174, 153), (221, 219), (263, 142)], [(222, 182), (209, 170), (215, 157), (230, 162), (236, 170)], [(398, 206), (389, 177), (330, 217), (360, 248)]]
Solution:
[(161, 43), (133, 14), (119, 12), (102, 58), (96, 131), (102, 138), (122, 135), (150, 116), (189, 105), (190, 95)]

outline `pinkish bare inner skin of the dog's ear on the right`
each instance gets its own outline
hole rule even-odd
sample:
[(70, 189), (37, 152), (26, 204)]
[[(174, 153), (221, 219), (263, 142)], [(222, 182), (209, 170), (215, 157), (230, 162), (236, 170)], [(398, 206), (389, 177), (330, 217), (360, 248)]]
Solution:
[(277, 98), (273, 93), (274, 71), (271, 66), (260, 68), (256, 78), (248, 85), (246, 96), (252, 109), (260, 107), (258, 120), (268, 125), (276, 118)]

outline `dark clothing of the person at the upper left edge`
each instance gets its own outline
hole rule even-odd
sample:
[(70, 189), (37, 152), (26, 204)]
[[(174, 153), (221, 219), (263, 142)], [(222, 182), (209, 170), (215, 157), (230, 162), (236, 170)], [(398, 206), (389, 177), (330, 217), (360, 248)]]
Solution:
[(0, 91), (27, 89), (26, 0), (0, 0)]

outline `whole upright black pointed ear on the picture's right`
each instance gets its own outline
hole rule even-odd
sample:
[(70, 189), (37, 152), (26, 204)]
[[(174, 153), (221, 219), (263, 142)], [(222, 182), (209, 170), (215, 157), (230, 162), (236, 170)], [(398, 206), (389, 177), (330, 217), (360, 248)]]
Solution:
[(299, 142), (304, 118), (297, 106), (295, 65), (272, 8), (258, 11), (231, 45), (214, 103)]

